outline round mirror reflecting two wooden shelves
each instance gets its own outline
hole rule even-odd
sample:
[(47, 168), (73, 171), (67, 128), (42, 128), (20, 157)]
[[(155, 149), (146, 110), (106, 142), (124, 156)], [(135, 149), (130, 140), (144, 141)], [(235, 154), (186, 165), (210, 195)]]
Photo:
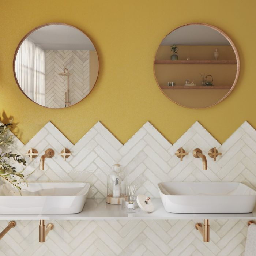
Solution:
[(237, 82), (239, 67), (231, 39), (202, 23), (173, 30), (159, 45), (154, 61), (162, 92), (187, 108), (207, 108), (225, 99)]

